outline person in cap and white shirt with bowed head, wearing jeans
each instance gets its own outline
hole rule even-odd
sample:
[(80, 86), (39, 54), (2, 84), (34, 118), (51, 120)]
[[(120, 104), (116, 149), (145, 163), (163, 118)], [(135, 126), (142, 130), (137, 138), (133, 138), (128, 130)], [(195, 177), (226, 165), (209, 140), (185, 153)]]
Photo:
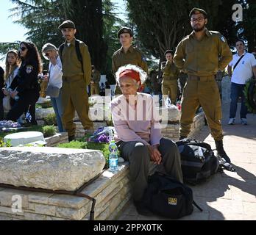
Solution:
[[(49, 75), (45, 75), (44, 79), (48, 81), (46, 88), (46, 95), (51, 97), (51, 105), (54, 108), (56, 114), (57, 126), (60, 132), (64, 132), (63, 129), (63, 104), (61, 98), (61, 87), (63, 86), (63, 65), (61, 63), (60, 56), (57, 52), (56, 46), (51, 43), (46, 43), (42, 48), (43, 57), (50, 61), (49, 63)], [(54, 94), (49, 90), (54, 90)]]

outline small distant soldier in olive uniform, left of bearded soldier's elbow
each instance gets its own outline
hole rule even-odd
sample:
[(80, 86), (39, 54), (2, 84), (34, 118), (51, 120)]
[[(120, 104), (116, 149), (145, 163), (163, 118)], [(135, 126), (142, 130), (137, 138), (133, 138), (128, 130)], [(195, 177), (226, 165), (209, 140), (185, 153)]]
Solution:
[(176, 104), (179, 69), (174, 65), (173, 51), (166, 51), (165, 56), (166, 62), (162, 62), (161, 65), (163, 72), (162, 93), (170, 96), (171, 104)]

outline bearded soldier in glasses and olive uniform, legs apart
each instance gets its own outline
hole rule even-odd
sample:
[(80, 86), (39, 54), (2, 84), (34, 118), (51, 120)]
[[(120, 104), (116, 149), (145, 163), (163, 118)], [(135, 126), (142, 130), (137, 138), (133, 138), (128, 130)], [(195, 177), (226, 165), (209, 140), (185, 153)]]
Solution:
[(205, 28), (205, 10), (194, 8), (189, 16), (193, 32), (181, 40), (174, 54), (175, 65), (188, 73), (182, 95), (180, 139), (188, 137), (196, 109), (201, 105), (216, 142), (218, 155), (230, 162), (223, 147), (221, 99), (215, 76), (217, 71), (223, 71), (232, 60), (232, 52), (224, 36)]

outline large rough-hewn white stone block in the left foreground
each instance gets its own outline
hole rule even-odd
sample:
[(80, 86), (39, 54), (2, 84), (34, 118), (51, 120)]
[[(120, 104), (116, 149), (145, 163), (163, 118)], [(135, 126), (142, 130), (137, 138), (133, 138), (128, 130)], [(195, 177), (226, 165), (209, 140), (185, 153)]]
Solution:
[(0, 148), (0, 183), (74, 191), (104, 168), (101, 151), (73, 148)]

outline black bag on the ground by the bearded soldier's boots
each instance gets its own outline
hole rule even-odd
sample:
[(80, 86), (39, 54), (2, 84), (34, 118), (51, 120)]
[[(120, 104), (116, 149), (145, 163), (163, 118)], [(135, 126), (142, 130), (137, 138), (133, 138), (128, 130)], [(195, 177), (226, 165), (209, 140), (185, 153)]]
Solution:
[(218, 171), (219, 160), (206, 142), (184, 139), (176, 144), (181, 156), (183, 180), (188, 184), (205, 181)]

